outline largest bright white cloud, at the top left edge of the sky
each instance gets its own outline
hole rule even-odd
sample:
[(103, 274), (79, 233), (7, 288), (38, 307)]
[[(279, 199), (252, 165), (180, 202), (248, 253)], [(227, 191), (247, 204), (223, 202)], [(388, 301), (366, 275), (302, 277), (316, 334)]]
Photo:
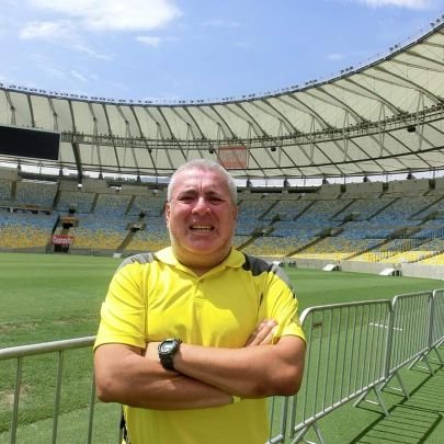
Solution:
[(65, 14), (94, 31), (153, 30), (182, 13), (173, 0), (29, 0), (34, 8)]

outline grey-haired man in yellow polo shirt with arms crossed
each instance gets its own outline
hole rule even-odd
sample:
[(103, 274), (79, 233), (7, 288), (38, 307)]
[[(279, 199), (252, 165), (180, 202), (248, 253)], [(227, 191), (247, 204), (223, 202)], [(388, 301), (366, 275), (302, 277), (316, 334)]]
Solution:
[(278, 267), (232, 248), (236, 184), (194, 160), (168, 187), (171, 247), (123, 262), (94, 345), (98, 396), (132, 444), (263, 444), (266, 397), (293, 395), (305, 341)]

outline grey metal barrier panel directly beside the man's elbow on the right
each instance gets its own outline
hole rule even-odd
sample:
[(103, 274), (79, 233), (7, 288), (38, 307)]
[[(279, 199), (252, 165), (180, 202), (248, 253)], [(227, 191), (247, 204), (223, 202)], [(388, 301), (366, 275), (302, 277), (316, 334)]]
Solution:
[[(311, 428), (322, 443), (318, 421), (384, 382), (389, 318), (389, 300), (327, 305), (303, 311), (307, 355), (301, 388), (291, 399), (287, 429), (292, 443), (301, 441)], [(376, 398), (388, 414), (378, 392)]]

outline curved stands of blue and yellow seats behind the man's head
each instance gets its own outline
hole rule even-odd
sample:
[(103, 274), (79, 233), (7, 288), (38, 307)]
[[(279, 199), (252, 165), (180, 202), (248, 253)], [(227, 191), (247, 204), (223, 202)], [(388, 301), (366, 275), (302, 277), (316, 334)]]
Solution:
[[(410, 184), (413, 184), (410, 189)], [(442, 264), (444, 186), (426, 179), (323, 184), (309, 193), (240, 190), (235, 244), (275, 260)], [(158, 250), (169, 243), (166, 189), (105, 180), (0, 179), (2, 250), (52, 250), (68, 236), (71, 253)], [(66, 217), (75, 223), (64, 224)], [(65, 220), (66, 221), (66, 220)], [(66, 250), (64, 250), (66, 251)]]

